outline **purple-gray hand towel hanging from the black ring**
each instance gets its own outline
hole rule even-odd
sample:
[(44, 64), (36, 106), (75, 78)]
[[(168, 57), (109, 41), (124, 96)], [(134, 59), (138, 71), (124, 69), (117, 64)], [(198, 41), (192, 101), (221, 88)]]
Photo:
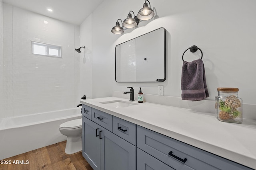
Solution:
[(198, 101), (209, 97), (205, 80), (204, 63), (201, 59), (183, 62), (181, 91), (182, 100)]

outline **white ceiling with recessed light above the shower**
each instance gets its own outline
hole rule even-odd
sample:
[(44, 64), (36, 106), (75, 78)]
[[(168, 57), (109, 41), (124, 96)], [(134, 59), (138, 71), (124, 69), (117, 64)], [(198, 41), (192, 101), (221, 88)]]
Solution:
[[(80, 25), (103, 0), (3, 0), (28, 11)], [(51, 8), (53, 12), (47, 9)]]

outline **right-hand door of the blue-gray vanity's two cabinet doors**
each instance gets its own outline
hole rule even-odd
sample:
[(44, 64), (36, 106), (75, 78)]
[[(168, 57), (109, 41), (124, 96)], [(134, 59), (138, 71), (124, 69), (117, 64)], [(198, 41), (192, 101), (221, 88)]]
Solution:
[(101, 170), (136, 170), (136, 147), (108, 130), (100, 133)]

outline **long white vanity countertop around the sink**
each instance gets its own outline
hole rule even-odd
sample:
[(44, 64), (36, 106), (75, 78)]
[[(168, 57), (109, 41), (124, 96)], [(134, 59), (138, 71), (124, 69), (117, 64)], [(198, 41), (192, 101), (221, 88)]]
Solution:
[(134, 101), (138, 105), (121, 108), (100, 103), (113, 100), (129, 102), (108, 97), (80, 103), (256, 169), (256, 121), (226, 123), (218, 121), (212, 113), (147, 102)]

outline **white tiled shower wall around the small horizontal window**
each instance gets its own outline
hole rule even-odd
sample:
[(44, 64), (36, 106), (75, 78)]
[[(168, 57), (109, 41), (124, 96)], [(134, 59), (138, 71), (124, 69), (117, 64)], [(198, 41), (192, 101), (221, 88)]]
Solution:
[[(74, 49), (79, 46), (79, 26), (5, 3), (3, 14), (4, 106), (0, 118), (76, 107), (79, 55)], [(62, 46), (62, 58), (32, 55), (31, 41)]]

